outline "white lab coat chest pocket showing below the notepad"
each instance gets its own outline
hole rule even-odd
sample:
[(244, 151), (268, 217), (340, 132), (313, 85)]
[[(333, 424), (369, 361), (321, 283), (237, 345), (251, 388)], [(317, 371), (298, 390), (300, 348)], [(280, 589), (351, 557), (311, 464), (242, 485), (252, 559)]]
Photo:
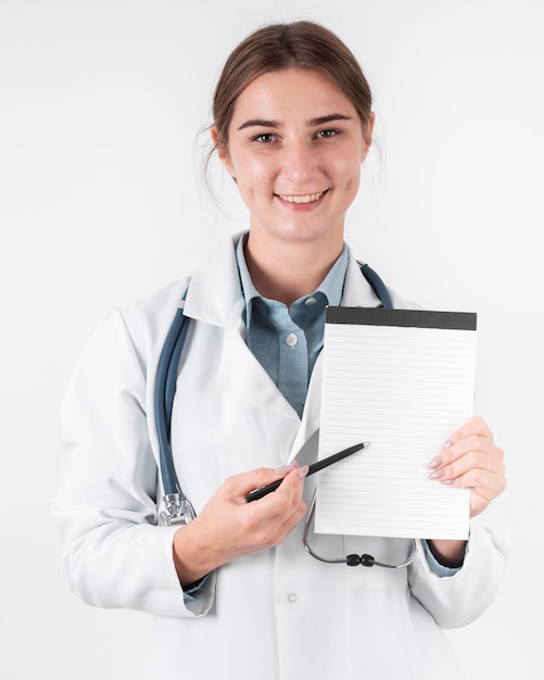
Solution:
[[(344, 536), (346, 555), (371, 555), (384, 564), (402, 564), (412, 550), (412, 541), (406, 539), (383, 539), (366, 536)], [(345, 566), (347, 590), (406, 590), (408, 570), (388, 569), (374, 565), (366, 567)]]

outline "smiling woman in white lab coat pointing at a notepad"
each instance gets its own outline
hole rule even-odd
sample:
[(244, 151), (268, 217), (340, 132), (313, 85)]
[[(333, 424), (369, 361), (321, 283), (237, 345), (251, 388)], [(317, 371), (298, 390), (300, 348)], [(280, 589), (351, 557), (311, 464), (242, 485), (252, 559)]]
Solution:
[[(418, 541), (397, 570), (324, 564), (302, 545), (325, 307), (380, 304), (343, 234), (371, 144), (368, 84), (327, 29), (271, 25), (227, 60), (213, 115), (250, 228), (190, 280), (112, 312), (89, 343), (64, 401), (54, 503), (69, 585), (96, 606), (156, 615), (146, 677), (460, 678), (442, 629), (479, 616), (505, 566), (490, 505), (505, 487), (503, 452), (483, 420), (459, 427), (429, 463), (437, 483), (470, 488), (467, 543)], [(180, 528), (156, 526), (152, 404), (186, 290), (172, 448), (197, 518)], [(393, 303), (409, 306), (395, 293)], [(278, 479), (276, 492), (245, 501)], [(318, 541), (329, 554), (350, 543), (383, 561), (409, 552), (396, 539)]]

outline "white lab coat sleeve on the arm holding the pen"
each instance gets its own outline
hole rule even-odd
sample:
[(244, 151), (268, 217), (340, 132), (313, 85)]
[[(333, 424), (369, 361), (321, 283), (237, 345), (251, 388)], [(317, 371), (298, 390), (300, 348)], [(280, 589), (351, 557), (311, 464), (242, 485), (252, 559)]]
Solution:
[(146, 366), (118, 311), (100, 324), (62, 405), (64, 477), (53, 501), (71, 590), (86, 603), (160, 616), (205, 615), (211, 575), (184, 597), (174, 527), (156, 526), (157, 466), (146, 408)]

